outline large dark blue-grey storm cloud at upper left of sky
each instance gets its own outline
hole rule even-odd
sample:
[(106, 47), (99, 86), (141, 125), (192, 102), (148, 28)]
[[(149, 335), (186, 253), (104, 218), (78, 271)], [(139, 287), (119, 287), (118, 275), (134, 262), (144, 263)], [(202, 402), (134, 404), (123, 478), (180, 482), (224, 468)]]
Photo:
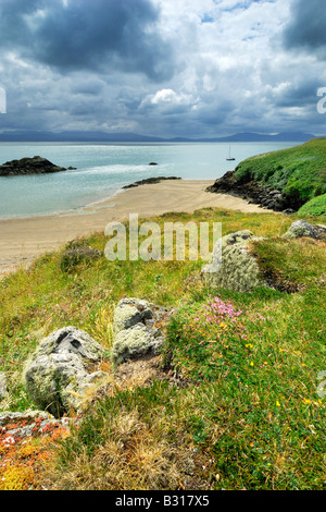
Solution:
[(149, 0), (2, 0), (0, 42), (61, 72), (173, 75), (173, 51), (155, 31)]

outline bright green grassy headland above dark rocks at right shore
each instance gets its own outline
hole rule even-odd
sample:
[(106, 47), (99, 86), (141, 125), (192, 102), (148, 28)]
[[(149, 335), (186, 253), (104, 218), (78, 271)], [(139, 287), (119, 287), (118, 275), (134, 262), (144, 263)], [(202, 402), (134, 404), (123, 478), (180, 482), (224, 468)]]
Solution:
[(326, 138), (248, 158), (239, 163), (236, 175), (263, 182), (306, 203), (326, 193)]

